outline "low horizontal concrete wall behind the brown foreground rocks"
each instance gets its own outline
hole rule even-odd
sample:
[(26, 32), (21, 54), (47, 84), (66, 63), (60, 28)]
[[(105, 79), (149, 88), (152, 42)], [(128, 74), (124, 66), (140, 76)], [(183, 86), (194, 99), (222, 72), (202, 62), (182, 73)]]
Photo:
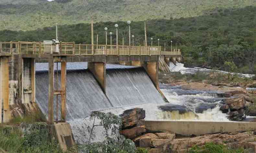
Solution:
[(145, 121), (145, 126), (149, 131), (167, 131), (184, 136), (256, 130), (253, 122)]

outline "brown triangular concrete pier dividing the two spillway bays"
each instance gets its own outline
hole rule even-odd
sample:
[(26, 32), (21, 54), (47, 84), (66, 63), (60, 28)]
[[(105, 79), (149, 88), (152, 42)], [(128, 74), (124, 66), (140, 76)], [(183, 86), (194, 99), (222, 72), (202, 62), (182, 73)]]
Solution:
[(88, 62), (88, 69), (99, 82), (102, 91), (106, 94), (106, 63)]

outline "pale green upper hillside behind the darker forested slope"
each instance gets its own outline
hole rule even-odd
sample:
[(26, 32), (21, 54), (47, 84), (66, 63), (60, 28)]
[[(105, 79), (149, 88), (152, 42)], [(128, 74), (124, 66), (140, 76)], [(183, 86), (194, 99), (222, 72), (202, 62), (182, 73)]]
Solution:
[(206, 15), (216, 8), (256, 6), (255, 0), (0, 0), (0, 30), (28, 31), (95, 21), (144, 21)]

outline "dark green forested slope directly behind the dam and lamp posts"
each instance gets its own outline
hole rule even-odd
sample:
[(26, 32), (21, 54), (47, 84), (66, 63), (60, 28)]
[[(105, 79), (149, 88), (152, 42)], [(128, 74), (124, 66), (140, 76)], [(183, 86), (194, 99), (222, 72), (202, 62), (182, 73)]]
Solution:
[[(105, 44), (104, 27), (108, 32), (115, 32), (114, 24), (119, 24), (119, 44), (124, 37), (128, 44), (128, 28), (126, 22), (99, 22), (94, 25), (95, 42), (99, 34), (99, 44)], [(54, 24), (53, 24), (54, 25)], [(132, 22), (131, 32), (135, 35), (135, 45), (144, 41), (144, 23)], [(177, 44), (188, 65), (207, 64), (221, 68), (225, 61), (234, 61), (240, 72), (253, 73), (256, 58), (256, 7), (248, 6), (239, 9), (218, 9), (215, 13), (198, 17), (172, 20), (150, 20), (147, 22), (148, 44), (150, 37), (157, 45), (170, 48)], [(90, 44), (90, 24), (62, 25), (59, 28), (60, 40)], [(43, 41), (55, 37), (55, 27), (45, 27), (33, 31), (0, 31), (0, 41)], [(115, 33), (113, 36), (115, 40)], [(110, 42), (108, 42), (110, 43)], [(199, 54), (202, 53), (202, 56)], [(253, 58), (253, 56), (255, 58)], [(255, 71), (256, 72), (256, 71)]]

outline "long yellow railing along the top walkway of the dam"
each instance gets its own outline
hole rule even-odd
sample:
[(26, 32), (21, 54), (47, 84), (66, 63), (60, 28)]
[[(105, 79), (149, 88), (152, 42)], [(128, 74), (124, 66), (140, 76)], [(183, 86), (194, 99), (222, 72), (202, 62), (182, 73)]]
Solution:
[(181, 55), (180, 49), (161, 51), (161, 46), (83, 45), (75, 42), (44, 44), (41, 42), (0, 42), (0, 55)]

